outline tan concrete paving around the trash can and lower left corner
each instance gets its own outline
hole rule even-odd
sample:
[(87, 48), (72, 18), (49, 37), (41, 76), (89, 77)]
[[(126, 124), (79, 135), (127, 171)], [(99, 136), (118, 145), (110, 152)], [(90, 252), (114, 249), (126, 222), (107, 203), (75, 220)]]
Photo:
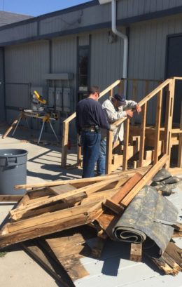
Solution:
[[(1, 128), (1, 135), (6, 127)], [(33, 133), (33, 135), (32, 135)], [(2, 139), (0, 135), (1, 149), (25, 149), (28, 154), (27, 183), (38, 183), (52, 180), (65, 180), (80, 178), (78, 169), (65, 170), (61, 168), (60, 145), (54, 142), (50, 134), (43, 134), (45, 145), (34, 143), (38, 134), (36, 131), (19, 129), (15, 138)], [(26, 142), (28, 140), (28, 142)], [(31, 141), (31, 142), (29, 142)], [(76, 163), (75, 147), (69, 151), (68, 163)], [(13, 203), (0, 203), (0, 224), (13, 208)], [(18, 248), (8, 248), (8, 253), (0, 258), (0, 286), (1, 287), (55, 287), (57, 283), (45, 272), (27, 253)], [(61, 287), (61, 285), (59, 285)]]

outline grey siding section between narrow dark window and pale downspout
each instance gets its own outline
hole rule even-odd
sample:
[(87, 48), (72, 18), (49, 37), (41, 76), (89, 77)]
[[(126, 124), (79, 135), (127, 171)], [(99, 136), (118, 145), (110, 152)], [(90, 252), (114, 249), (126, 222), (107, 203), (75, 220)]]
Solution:
[(91, 85), (101, 91), (123, 76), (123, 40), (109, 44), (109, 30), (92, 34)]

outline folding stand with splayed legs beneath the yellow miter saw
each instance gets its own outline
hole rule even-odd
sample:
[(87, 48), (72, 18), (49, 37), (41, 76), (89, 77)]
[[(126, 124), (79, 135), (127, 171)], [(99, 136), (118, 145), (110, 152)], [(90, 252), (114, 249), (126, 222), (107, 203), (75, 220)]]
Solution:
[(27, 121), (27, 117), (32, 117), (32, 118), (35, 118), (35, 119), (41, 119), (42, 122), (43, 122), (43, 123), (42, 123), (42, 126), (41, 126), (41, 132), (40, 132), (40, 135), (39, 135), (39, 137), (38, 137), (37, 145), (39, 145), (39, 143), (40, 143), (40, 140), (41, 140), (41, 136), (42, 136), (42, 133), (43, 133), (43, 128), (44, 128), (44, 126), (45, 126), (45, 123), (50, 124), (50, 128), (51, 128), (51, 130), (52, 130), (52, 133), (54, 133), (57, 142), (59, 142), (59, 139), (57, 138), (57, 135), (56, 135), (56, 133), (55, 133), (55, 130), (54, 130), (52, 124), (51, 124), (51, 121), (56, 121), (56, 119), (55, 119), (54, 117), (51, 117), (49, 114), (39, 115), (39, 114), (37, 114), (36, 112), (27, 112), (26, 110), (22, 110), (22, 111), (20, 112), (20, 116), (19, 116), (19, 118), (18, 118), (18, 122), (17, 122), (17, 124), (16, 124), (16, 126), (15, 126), (15, 129), (14, 129), (14, 131), (13, 131), (12, 137), (15, 135), (15, 131), (16, 131), (16, 129), (18, 128), (18, 125), (20, 124), (21, 119), (25, 119), (25, 121), (27, 122), (27, 126), (28, 126), (28, 128), (29, 128), (28, 121)]

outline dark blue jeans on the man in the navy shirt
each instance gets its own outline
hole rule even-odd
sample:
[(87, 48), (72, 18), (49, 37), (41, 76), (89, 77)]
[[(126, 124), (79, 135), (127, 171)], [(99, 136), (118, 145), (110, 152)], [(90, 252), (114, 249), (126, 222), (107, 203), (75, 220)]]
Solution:
[(97, 132), (82, 131), (81, 143), (83, 147), (83, 178), (94, 176), (94, 166), (99, 157), (101, 134)]

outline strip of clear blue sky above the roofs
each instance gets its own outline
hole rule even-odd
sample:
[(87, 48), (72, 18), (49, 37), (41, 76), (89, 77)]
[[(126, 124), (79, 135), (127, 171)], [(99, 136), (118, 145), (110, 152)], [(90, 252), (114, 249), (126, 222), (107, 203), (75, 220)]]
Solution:
[(90, 0), (0, 0), (0, 11), (38, 16), (85, 2)]

